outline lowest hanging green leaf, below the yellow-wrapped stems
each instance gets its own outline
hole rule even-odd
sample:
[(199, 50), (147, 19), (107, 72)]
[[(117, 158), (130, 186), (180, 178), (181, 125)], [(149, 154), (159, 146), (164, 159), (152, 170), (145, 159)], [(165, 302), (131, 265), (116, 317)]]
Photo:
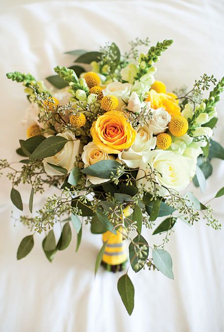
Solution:
[(128, 314), (131, 316), (134, 309), (134, 286), (127, 273), (118, 280), (117, 289)]

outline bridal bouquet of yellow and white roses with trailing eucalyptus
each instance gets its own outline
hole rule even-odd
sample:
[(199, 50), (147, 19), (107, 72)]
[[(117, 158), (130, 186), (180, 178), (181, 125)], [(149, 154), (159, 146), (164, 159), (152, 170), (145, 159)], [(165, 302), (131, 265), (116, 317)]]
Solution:
[[(0, 161), (1, 170), (9, 168), (11, 200), (20, 210), (17, 187), (31, 189), (31, 214), (19, 219), (31, 233), (21, 241), (18, 259), (31, 251), (36, 233), (44, 234), (42, 247), (50, 262), (69, 246), (73, 233), (77, 251), (86, 223), (103, 238), (95, 273), (101, 263), (106, 270), (124, 270), (129, 243), (128, 268), (159, 270), (173, 279), (165, 245), (175, 224), (205, 219), (208, 226), (221, 227), (210, 205), (181, 192), (191, 180), (204, 192), (212, 158), (224, 159), (223, 147), (211, 139), (224, 78), (217, 83), (204, 74), (189, 91), (168, 92), (154, 74), (172, 41), (157, 42), (140, 54), (138, 46), (149, 46), (149, 40), (130, 44), (123, 55), (115, 43), (99, 52), (68, 52), (76, 57), (75, 65), (56, 66), (57, 75), (47, 78), (54, 85), (50, 89), (31, 74), (7, 73), (23, 83), (30, 103), (22, 118), (27, 138), (17, 149), (20, 166)], [(48, 187), (55, 188), (54, 195), (34, 213), (35, 194)], [(222, 195), (224, 188), (215, 197)], [(57, 239), (56, 223), (61, 224)], [(141, 235), (143, 227), (162, 233), (161, 243), (149, 243)], [(134, 288), (127, 272), (118, 280), (118, 291), (131, 314)]]

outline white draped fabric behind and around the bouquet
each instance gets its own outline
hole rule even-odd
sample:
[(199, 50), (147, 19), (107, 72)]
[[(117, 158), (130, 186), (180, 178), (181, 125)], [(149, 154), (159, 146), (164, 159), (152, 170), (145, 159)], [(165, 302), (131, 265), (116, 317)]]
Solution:
[[(15, 1), (15, 4), (18, 3)], [(124, 52), (139, 36), (174, 43), (157, 64), (156, 78), (168, 90), (187, 84), (204, 72), (224, 75), (224, 1), (49, 1), (15, 5), (0, 13), (0, 156), (19, 160), (14, 149), (24, 138), (20, 118), (27, 105), (23, 88), (5, 78), (8, 71), (31, 72), (42, 79), (57, 64), (71, 65), (63, 52), (97, 50), (114, 41)], [(224, 145), (224, 96), (218, 106), (215, 139)], [(224, 162), (212, 161), (205, 203), (224, 186)], [(94, 281), (100, 235), (85, 228), (75, 254), (75, 233), (69, 249), (50, 264), (41, 249), (42, 236), (21, 261), (16, 250), (29, 231), (10, 219), (14, 209), (10, 184), (0, 182), (0, 331), (1, 332), (221, 332), (224, 331), (224, 230), (201, 220), (194, 227), (177, 223), (167, 246), (175, 280), (159, 272), (129, 270), (135, 287), (135, 308), (128, 316), (116, 290), (121, 274), (101, 268)], [(22, 190), (27, 201), (30, 188)], [(48, 194), (48, 193), (47, 193)], [(49, 191), (50, 194), (50, 191)], [(36, 199), (36, 208), (41, 203)], [(224, 220), (223, 198), (213, 206)], [(15, 216), (19, 212), (14, 209)], [(145, 232), (149, 242), (149, 232)], [(153, 239), (154, 240), (154, 239)]]

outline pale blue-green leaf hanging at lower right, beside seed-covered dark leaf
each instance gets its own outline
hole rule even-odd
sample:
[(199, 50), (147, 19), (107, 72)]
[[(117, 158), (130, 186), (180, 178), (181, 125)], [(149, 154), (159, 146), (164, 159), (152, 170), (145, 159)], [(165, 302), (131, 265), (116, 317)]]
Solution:
[(174, 279), (172, 271), (172, 258), (168, 251), (163, 249), (152, 249), (152, 259), (155, 267), (166, 277)]

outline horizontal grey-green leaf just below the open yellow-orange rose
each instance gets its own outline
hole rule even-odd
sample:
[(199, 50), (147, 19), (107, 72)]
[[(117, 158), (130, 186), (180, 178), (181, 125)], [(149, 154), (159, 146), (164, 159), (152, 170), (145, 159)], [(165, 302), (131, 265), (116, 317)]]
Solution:
[(91, 166), (88, 166), (81, 170), (82, 173), (97, 176), (101, 179), (110, 179), (111, 173), (116, 174), (117, 167), (121, 164), (115, 160), (101, 160)]

